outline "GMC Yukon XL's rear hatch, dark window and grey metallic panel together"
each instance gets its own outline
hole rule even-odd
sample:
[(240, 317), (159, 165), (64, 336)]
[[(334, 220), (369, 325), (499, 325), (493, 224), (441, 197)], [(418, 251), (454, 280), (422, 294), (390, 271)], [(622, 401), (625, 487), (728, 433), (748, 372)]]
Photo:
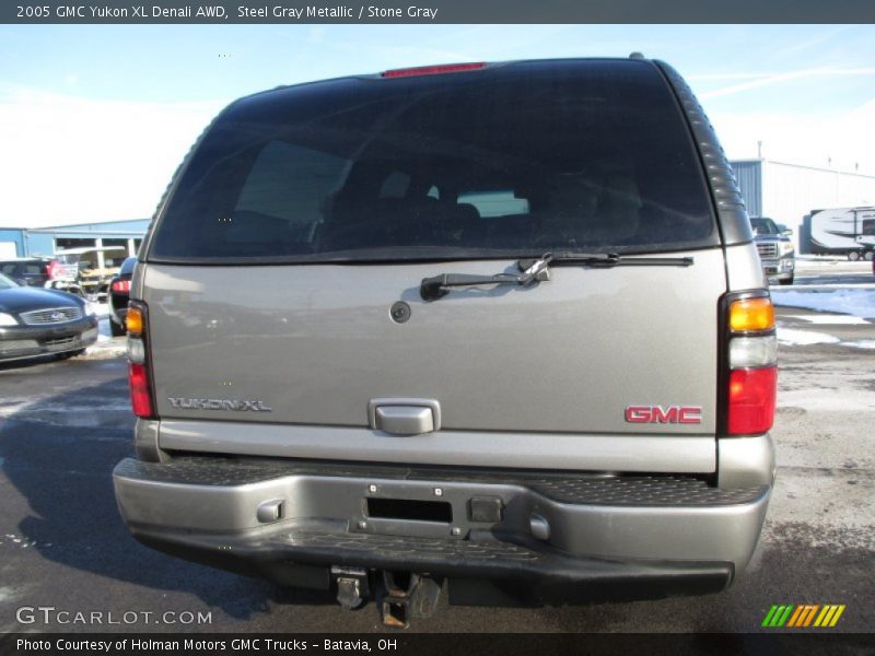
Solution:
[[(553, 266), (525, 286), (420, 294), (424, 278), (516, 274), (546, 253), (693, 262)], [(365, 429), (373, 399), (422, 399), (441, 430), (485, 443), (713, 436), (723, 257), (689, 127), (652, 62), (258, 94), (206, 132), (150, 238), (156, 414)], [(629, 407), (661, 417), (630, 421)], [(701, 421), (680, 422), (681, 407)]]

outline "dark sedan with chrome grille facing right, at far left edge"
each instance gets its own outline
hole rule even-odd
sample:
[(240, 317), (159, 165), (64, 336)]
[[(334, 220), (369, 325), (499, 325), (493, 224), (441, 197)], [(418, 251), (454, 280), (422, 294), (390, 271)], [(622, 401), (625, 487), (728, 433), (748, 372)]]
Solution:
[(79, 355), (97, 341), (97, 317), (79, 296), (24, 286), (0, 273), (0, 362)]

